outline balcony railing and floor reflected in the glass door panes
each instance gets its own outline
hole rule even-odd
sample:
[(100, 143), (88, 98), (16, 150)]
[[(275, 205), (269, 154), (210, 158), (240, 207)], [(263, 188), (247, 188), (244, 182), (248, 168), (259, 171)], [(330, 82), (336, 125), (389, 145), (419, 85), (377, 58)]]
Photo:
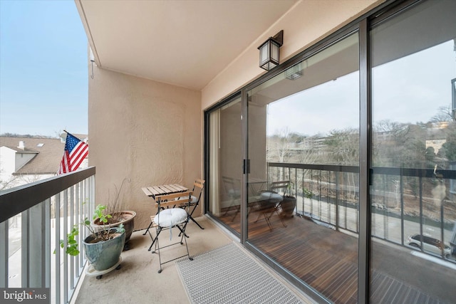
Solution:
[[(455, 172), (387, 167), (372, 172), (373, 303), (415, 303), (422, 297), (431, 303), (451, 302), (456, 296), (450, 292), (456, 269), (455, 197), (451, 191), (450, 197), (439, 196), (435, 189), (442, 184), (452, 189)], [(284, 224), (273, 214), (271, 229), (257, 206), (249, 204), (249, 245), (333, 303), (356, 303), (358, 167), (269, 163), (268, 176), (269, 183), (290, 181), (287, 194), (296, 197), (296, 214), (284, 218)], [(237, 231), (239, 214), (231, 206), (221, 221)], [(453, 254), (410, 246), (412, 234), (444, 240)]]

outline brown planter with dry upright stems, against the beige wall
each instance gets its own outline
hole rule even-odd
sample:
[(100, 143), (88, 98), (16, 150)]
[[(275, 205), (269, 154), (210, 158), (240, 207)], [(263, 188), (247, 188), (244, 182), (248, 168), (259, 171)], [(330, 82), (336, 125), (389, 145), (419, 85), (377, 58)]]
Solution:
[[(136, 212), (124, 209), (125, 197), (122, 194), (122, 188), (125, 184), (125, 181), (128, 181), (128, 179), (123, 179), (122, 184), (120, 184), (120, 188), (114, 185), (113, 195), (111, 195), (111, 192), (109, 192), (108, 204), (106, 205), (103, 213), (110, 214), (106, 220), (108, 220), (107, 223), (111, 227), (118, 227), (120, 225), (123, 225), (123, 228), (125, 229), (125, 246), (123, 250), (128, 250), (130, 248), (128, 241), (130, 240), (130, 236), (133, 233), (133, 229), (135, 227)], [(105, 223), (101, 220), (100, 216), (97, 216), (93, 218), (91, 226), (95, 231), (103, 230)]]

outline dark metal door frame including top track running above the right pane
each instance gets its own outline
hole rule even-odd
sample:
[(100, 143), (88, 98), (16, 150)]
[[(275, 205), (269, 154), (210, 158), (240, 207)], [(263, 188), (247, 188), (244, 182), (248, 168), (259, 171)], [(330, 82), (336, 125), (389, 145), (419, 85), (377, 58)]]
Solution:
[[(385, 21), (391, 16), (397, 14), (405, 8), (409, 8), (414, 4), (419, 4), (420, 0), (405, 0), (395, 1), (387, 0), (385, 3), (376, 6), (371, 11), (368, 11), (363, 16), (343, 26), (335, 33), (330, 36), (323, 38), (323, 40), (314, 44), (310, 48), (302, 51), (298, 55), (290, 58), (288, 61), (277, 65), (269, 72), (260, 75), (257, 79), (248, 83), (243, 88), (237, 90), (232, 95), (224, 98), (220, 103), (213, 105), (211, 108), (204, 110), (204, 177), (209, 177), (209, 113), (222, 105), (225, 105), (235, 97), (241, 95), (242, 104), (242, 156), (244, 159), (243, 174), (242, 174), (242, 194), (241, 194), (241, 233), (237, 234), (233, 231), (234, 235), (239, 237), (240, 243), (245, 246), (249, 251), (254, 253), (257, 257), (261, 258), (261, 261), (269, 265), (274, 271), (277, 271), (281, 276), (284, 276), (290, 283), (301, 288), (304, 292), (309, 292), (309, 296), (314, 298), (318, 303), (328, 303), (326, 298), (318, 295), (315, 290), (309, 288), (308, 285), (304, 285), (299, 278), (286, 271), (286, 269), (271, 261), (267, 256), (259, 251), (255, 246), (252, 246), (247, 239), (247, 163), (248, 163), (248, 123), (247, 123), (247, 92), (257, 87), (261, 83), (274, 78), (279, 73), (283, 73), (286, 68), (290, 68), (299, 61), (303, 61), (306, 58), (314, 55), (323, 48), (331, 46), (331, 44), (340, 41), (343, 37), (358, 31), (359, 35), (359, 77), (360, 77), (360, 147), (359, 147), (359, 239), (358, 239), (358, 303), (370, 303), (371, 300), (371, 204), (370, 204), (370, 185), (371, 185), (371, 144), (372, 144), (372, 99), (371, 99), (371, 65), (369, 58), (369, 35), (371, 27), (375, 23)], [(206, 187), (205, 197), (209, 197), (209, 187)], [(207, 210), (208, 201), (205, 201), (205, 210)], [(217, 221), (217, 218), (214, 217)], [(220, 221), (217, 221), (221, 223)], [(222, 224), (222, 223), (221, 223)], [(225, 225), (224, 225), (225, 226)], [(229, 229), (229, 227), (227, 227)], [(232, 231), (232, 229), (229, 229)]]

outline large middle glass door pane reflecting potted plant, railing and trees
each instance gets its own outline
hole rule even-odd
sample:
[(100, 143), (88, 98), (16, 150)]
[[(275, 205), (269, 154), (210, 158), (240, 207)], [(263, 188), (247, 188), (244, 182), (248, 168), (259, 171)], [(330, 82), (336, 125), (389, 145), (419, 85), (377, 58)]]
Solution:
[(247, 241), (333, 303), (358, 295), (358, 33), (249, 90)]

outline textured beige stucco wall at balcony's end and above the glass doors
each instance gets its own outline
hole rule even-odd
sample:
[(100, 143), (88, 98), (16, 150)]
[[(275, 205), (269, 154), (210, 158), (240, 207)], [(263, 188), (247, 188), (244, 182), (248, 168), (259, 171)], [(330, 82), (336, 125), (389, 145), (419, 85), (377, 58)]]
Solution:
[(155, 211), (141, 187), (168, 183), (190, 187), (202, 177), (202, 110), (265, 73), (258, 67), (260, 43), (283, 29), (284, 62), (383, 2), (299, 1), (202, 92), (94, 67), (89, 78), (88, 130), (89, 164), (97, 170), (96, 203), (108, 204), (114, 188), (126, 179), (126, 208), (138, 213), (135, 229), (145, 228)]

